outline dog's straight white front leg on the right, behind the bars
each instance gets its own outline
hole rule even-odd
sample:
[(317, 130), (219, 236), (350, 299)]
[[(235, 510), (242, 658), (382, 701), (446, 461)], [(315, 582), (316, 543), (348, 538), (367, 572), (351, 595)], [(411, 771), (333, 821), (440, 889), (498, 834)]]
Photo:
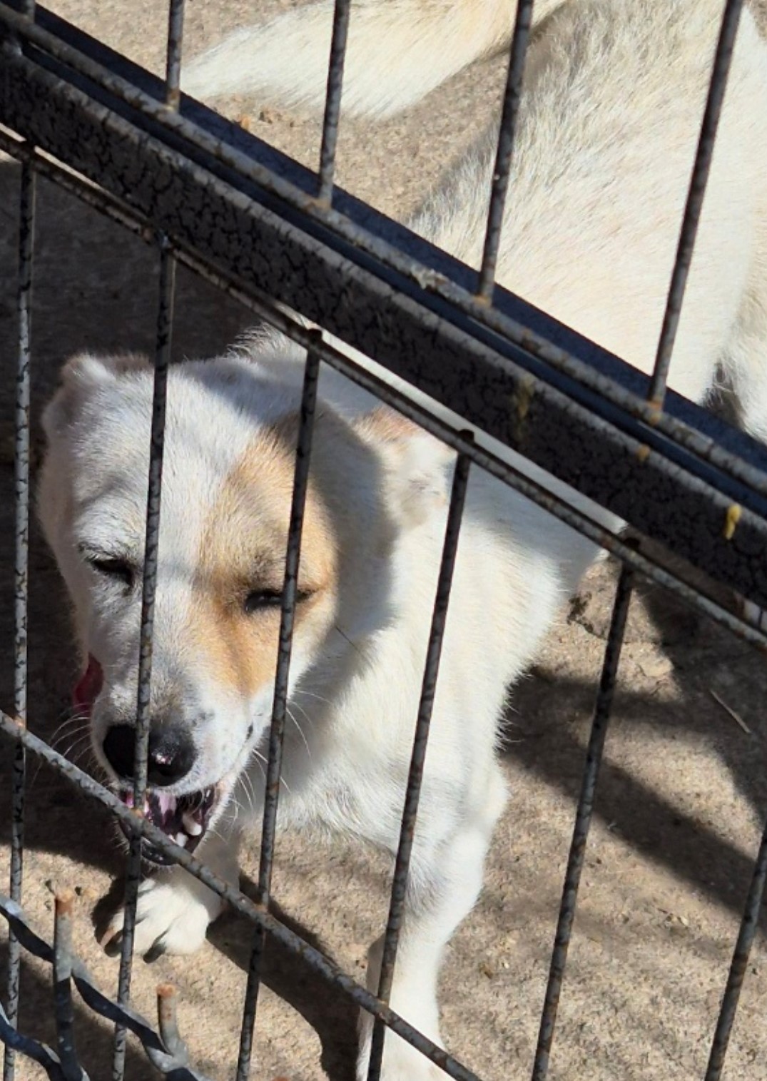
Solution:
[[(485, 855), (506, 802), (506, 786), (494, 763), (488, 792), (442, 842), (426, 852), (418, 843), (418, 827), (411, 864), (390, 1004), (423, 1036), (442, 1045), (436, 987), (445, 945), (471, 911), (482, 889)], [(367, 987), (378, 990), (382, 937), (367, 956)], [(363, 1012), (358, 1079), (365, 1081), (371, 1055), (373, 1020)], [(382, 1081), (438, 1081), (444, 1073), (393, 1032), (383, 1043)]]

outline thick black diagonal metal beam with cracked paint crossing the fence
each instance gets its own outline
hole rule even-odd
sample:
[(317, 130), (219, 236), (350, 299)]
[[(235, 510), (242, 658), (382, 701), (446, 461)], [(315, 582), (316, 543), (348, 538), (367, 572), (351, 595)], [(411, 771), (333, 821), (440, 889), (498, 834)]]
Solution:
[[(214, 257), (246, 291), (255, 285), (395, 373), (417, 376), (421, 389), (467, 421), (513, 441), (637, 530), (767, 604), (767, 570), (757, 555), (767, 539), (763, 448), (673, 393), (659, 414), (646, 400), (649, 381), (617, 358), (503, 291), (496, 290), (494, 307), (477, 303), (468, 290), (473, 272), (444, 253), (337, 188), (334, 206), (344, 213), (323, 210), (314, 174), (193, 104), (185, 102), (183, 115), (159, 107), (164, 84), (153, 85), (146, 72), (50, 14), (39, 17), (40, 25), (26, 28), (35, 63), (25, 55), (6, 64), (0, 88), (16, 131), (33, 133), (134, 212), (166, 227), (176, 244)], [(24, 29), (13, 17), (9, 25)], [(38, 46), (45, 52), (38, 55)], [(116, 75), (123, 69), (130, 80)], [(68, 82), (73, 75), (77, 88)], [(83, 79), (93, 82), (95, 96), (80, 89)], [(36, 109), (37, 94), (49, 110), (55, 103), (55, 125), (50, 112)], [(185, 215), (185, 206), (194, 213)], [(272, 212), (278, 209), (282, 216)], [(322, 221), (319, 232), (314, 218)], [(470, 321), (462, 318), (469, 315)], [(624, 471), (619, 491), (616, 463)], [(736, 546), (722, 535), (734, 502), (740, 508)], [(685, 535), (690, 520), (696, 529)]]

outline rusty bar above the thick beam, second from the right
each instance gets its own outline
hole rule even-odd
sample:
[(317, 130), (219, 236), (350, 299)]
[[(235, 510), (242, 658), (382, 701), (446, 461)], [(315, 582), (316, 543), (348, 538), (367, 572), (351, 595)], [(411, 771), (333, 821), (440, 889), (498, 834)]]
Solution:
[(509, 189), (509, 175), (511, 173), (511, 160), (514, 151), (516, 118), (520, 111), (520, 102), (522, 101), (525, 56), (527, 55), (530, 24), (533, 22), (533, 3), (534, 0), (517, 0), (516, 22), (514, 23), (514, 34), (511, 39), (509, 75), (506, 82), (506, 93), (503, 94), (500, 128), (498, 129), (498, 147), (496, 150), (495, 169), (493, 170), (490, 205), (487, 212), (487, 229), (485, 231), (482, 267), (476, 289), (477, 297), (487, 301), (488, 304), (493, 299), (493, 290), (495, 289), (498, 246), (500, 244), (501, 229), (503, 228), (503, 211), (506, 209), (506, 196)]

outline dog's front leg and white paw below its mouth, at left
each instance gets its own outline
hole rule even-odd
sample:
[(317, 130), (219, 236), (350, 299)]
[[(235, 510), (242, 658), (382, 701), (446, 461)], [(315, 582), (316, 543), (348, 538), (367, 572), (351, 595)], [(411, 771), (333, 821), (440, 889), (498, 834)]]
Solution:
[[(200, 852), (205, 866), (237, 886), (238, 836), (214, 833)], [(208, 923), (224, 909), (224, 900), (181, 867), (159, 871), (138, 888), (134, 949), (137, 953), (193, 953), (205, 940)], [(122, 935), (124, 909), (112, 917), (105, 944), (116, 947)]]

